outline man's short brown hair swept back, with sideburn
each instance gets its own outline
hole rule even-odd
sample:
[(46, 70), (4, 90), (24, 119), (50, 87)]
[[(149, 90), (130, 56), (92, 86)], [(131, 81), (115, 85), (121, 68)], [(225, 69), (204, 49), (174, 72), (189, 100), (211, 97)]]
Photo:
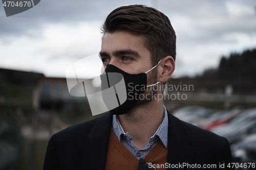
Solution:
[(116, 31), (142, 35), (153, 65), (166, 56), (176, 59), (175, 31), (168, 17), (154, 8), (144, 5), (119, 7), (106, 17), (101, 31), (103, 35)]

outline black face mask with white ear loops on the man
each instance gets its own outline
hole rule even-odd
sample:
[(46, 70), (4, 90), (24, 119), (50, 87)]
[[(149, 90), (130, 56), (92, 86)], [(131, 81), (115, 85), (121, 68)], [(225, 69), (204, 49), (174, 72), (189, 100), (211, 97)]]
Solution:
[[(159, 61), (159, 63), (162, 60)], [(159, 64), (158, 63), (158, 64)], [(158, 65), (157, 64), (157, 65)], [(157, 66), (156, 65), (156, 66)], [(156, 66), (154, 66), (152, 69), (154, 69)], [(151, 71), (152, 69), (148, 70), (147, 72)], [(120, 102), (120, 97), (122, 97), (120, 95), (120, 93), (117, 92), (116, 88), (115, 88), (115, 93), (116, 93), (116, 98), (118, 101), (118, 107), (113, 108), (113, 104), (109, 102), (110, 98), (108, 96), (108, 94), (105, 94), (104, 92), (102, 92), (102, 99), (106, 105), (106, 107), (110, 110), (110, 112), (112, 114), (124, 114), (129, 112), (135, 105), (135, 103), (138, 101), (139, 99), (139, 95), (142, 94), (147, 87), (156, 85), (160, 82), (157, 82), (156, 84), (153, 85), (146, 85), (147, 83), (147, 76), (146, 73), (140, 73), (140, 74), (129, 74), (123, 70), (121, 70), (120, 68), (112, 65), (112, 64), (108, 64), (105, 68), (105, 74), (100, 75), (100, 79), (101, 79), (101, 91), (110, 88), (112, 86), (114, 86), (115, 88), (115, 84), (117, 84), (123, 77), (124, 79), (124, 83), (125, 83), (125, 88), (126, 88), (126, 96), (127, 99), (125, 100), (125, 102)], [(110, 72), (114, 72), (114, 73), (119, 73), (117, 74), (117, 77), (113, 78), (113, 74), (110, 74)], [(118, 75), (122, 75), (122, 77), (118, 77)], [(111, 78), (112, 75), (112, 78)], [(122, 93), (123, 95), (123, 93)], [(111, 108), (111, 109), (110, 109)]]

